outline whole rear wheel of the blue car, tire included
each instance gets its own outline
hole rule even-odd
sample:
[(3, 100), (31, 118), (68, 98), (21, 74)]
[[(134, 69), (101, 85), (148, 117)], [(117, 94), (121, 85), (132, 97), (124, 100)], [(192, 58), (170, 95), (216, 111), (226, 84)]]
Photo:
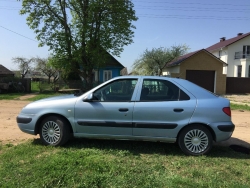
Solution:
[(180, 132), (178, 145), (186, 155), (205, 155), (213, 146), (213, 137), (203, 125), (190, 125)]

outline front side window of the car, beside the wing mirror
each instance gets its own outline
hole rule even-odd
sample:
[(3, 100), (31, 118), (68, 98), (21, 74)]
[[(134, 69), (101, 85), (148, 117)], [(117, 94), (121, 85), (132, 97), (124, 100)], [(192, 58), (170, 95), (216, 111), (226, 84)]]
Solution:
[(131, 101), (137, 79), (122, 79), (108, 83), (96, 90), (93, 95), (98, 101), (126, 102)]

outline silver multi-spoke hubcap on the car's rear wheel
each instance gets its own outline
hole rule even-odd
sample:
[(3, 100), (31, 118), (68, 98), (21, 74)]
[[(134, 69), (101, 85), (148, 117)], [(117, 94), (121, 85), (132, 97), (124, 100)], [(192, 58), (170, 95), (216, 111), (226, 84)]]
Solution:
[(201, 153), (208, 146), (208, 136), (202, 130), (193, 129), (185, 135), (184, 144), (192, 153)]

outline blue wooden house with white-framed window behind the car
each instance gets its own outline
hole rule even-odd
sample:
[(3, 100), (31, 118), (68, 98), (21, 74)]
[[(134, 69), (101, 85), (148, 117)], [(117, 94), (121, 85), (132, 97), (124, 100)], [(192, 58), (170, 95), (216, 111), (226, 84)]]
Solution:
[(121, 70), (124, 68), (125, 67), (119, 61), (117, 61), (112, 55), (108, 54), (106, 64), (94, 69), (93, 80), (95, 82), (105, 82), (116, 76), (121, 76)]

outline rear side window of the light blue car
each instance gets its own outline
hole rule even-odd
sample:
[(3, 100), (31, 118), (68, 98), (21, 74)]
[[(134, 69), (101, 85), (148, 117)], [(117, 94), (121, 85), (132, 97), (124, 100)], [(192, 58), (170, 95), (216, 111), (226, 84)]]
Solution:
[(140, 101), (178, 101), (190, 97), (172, 82), (167, 80), (144, 79)]

